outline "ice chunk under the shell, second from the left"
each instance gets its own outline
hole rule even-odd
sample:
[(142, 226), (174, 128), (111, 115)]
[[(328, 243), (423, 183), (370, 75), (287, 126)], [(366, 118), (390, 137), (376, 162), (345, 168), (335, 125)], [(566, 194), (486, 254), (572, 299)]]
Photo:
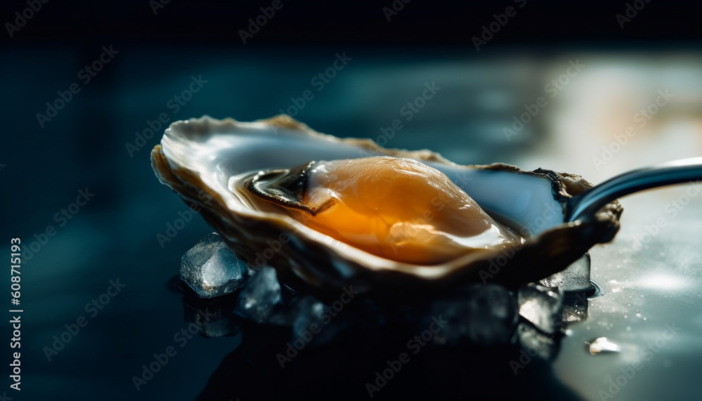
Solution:
[(258, 323), (267, 323), (281, 306), (281, 291), (274, 268), (260, 268), (241, 290), (234, 313)]

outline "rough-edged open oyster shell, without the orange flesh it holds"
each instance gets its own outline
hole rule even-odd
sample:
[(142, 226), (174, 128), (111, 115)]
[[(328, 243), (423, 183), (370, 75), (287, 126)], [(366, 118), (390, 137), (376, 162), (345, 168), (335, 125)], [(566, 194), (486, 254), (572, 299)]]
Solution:
[[(485, 211), (526, 238), (512, 249), (472, 252), (436, 265), (415, 265), (369, 254), (272, 213), (230, 189), (237, 176), (289, 169), (311, 161), (391, 156), (415, 159), (442, 171)], [(280, 115), (255, 122), (201, 117), (177, 121), (151, 153), (159, 180), (187, 204), (253, 268), (272, 265), (283, 280), (314, 287), (368, 291), (470, 281), (519, 284), (563, 270), (619, 228), (621, 206), (564, 223), (565, 201), (592, 185), (580, 176), (507, 164), (461, 166), (428, 150), (380, 147), (372, 140), (336, 138)]]

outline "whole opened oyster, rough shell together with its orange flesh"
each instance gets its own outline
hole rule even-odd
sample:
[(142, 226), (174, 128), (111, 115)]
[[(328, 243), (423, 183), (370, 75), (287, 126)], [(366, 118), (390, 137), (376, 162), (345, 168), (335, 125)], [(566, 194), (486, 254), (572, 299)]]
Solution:
[(460, 166), (284, 115), (178, 121), (151, 156), (237, 256), (316, 287), (532, 282), (611, 240), (621, 213), (565, 223), (566, 200), (592, 186), (579, 176)]

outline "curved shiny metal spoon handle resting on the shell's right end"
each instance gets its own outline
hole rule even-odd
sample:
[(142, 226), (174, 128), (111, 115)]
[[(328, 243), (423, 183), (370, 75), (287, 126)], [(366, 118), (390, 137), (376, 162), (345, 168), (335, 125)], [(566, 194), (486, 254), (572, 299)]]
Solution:
[(595, 216), (602, 206), (624, 195), (702, 178), (702, 157), (680, 159), (620, 174), (569, 199), (567, 221)]

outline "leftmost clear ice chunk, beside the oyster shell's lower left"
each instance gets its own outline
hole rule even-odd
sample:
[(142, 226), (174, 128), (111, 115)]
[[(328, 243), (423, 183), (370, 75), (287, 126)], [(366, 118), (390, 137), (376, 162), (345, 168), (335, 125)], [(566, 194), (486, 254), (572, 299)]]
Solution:
[(241, 261), (215, 232), (206, 235), (180, 262), (180, 278), (201, 298), (237, 291), (247, 274)]

